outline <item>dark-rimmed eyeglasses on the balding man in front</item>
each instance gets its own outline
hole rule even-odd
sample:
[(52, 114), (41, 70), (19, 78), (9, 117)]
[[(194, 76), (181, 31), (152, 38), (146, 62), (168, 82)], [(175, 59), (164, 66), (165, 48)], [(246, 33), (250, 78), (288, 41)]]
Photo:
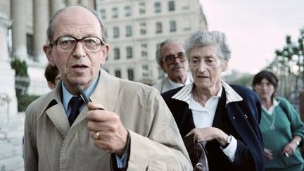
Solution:
[(101, 50), (103, 42), (98, 37), (84, 37), (82, 39), (76, 39), (75, 37), (58, 37), (53, 42), (49, 42), (51, 46), (56, 45), (57, 50), (61, 52), (71, 52), (75, 49), (78, 42), (82, 42), (82, 46), (85, 51), (89, 53), (96, 53)]

